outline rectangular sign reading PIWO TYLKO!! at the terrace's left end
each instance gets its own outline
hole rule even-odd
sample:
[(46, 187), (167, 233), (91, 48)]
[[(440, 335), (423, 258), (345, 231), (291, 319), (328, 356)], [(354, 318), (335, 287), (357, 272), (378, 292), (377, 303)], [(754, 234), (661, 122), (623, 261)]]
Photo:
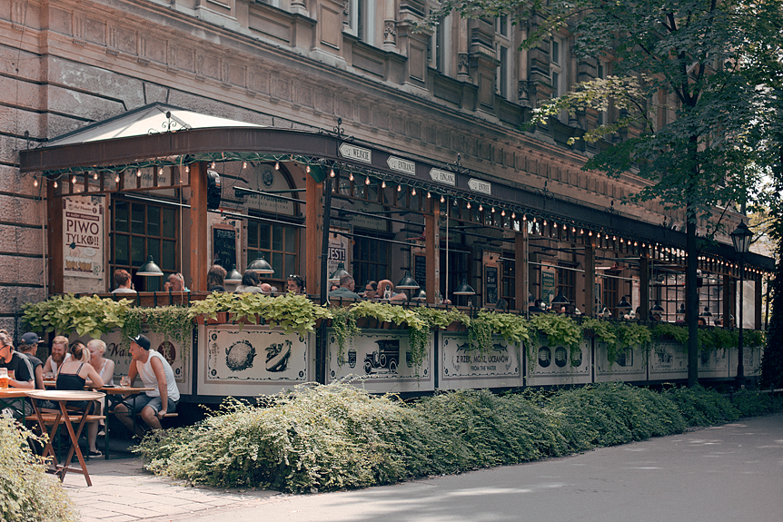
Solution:
[(104, 277), (104, 198), (63, 198), (63, 275)]

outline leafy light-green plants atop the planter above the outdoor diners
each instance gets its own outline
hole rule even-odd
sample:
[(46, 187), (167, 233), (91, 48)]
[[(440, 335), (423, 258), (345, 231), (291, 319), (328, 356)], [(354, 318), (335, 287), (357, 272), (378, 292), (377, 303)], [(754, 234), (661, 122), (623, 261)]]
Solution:
[(23, 320), (32, 331), (54, 331), (68, 336), (72, 331), (81, 337), (100, 338), (123, 327), (131, 300), (114, 301), (98, 296), (76, 297), (74, 294), (55, 295), (48, 300), (27, 303)]

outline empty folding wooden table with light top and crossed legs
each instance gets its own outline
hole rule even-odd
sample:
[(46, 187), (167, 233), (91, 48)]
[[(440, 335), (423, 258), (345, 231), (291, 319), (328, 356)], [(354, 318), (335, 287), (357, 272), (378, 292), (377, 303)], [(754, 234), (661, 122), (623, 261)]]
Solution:
[[(65, 478), (65, 473), (68, 471), (74, 471), (75, 473), (81, 473), (84, 475), (84, 479), (87, 481), (87, 486), (92, 486), (93, 482), (90, 480), (90, 474), (87, 472), (87, 465), (84, 463), (84, 456), (82, 450), (79, 448), (79, 436), (82, 434), (84, 428), (84, 422), (87, 420), (86, 412), (68, 412), (66, 405), (68, 402), (82, 401), (82, 400), (98, 400), (104, 397), (104, 393), (97, 391), (82, 391), (82, 390), (64, 390), (64, 389), (35, 389), (28, 390), (27, 397), (33, 401), (33, 409), (35, 411), (35, 418), (38, 421), (38, 426), (41, 427), (41, 431), (46, 433), (46, 424), (41, 414), (41, 409), (38, 408), (38, 400), (49, 400), (57, 403), (60, 411), (56, 414), (55, 423), (52, 425), (51, 431), (48, 433), (49, 440), (46, 441), (46, 447), (44, 449), (44, 458), (51, 456), (54, 468), (49, 471), (59, 476), (62, 482)], [(79, 426), (74, 432), (74, 427), (71, 425), (70, 419), (79, 419)], [(57, 458), (55, 457), (55, 448), (52, 447), (52, 440), (57, 434), (57, 428), (60, 426), (60, 421), (64, 420), (65, 428), (68, 430), (68, 435), (71, 437), (71, 448), (68, 449), (68, 455), (65, 458), (62, 465), (57, 464)], [(71, 468), (71, 459), (74, 457), (79, 459), (79, 465), (81, 469)]]

